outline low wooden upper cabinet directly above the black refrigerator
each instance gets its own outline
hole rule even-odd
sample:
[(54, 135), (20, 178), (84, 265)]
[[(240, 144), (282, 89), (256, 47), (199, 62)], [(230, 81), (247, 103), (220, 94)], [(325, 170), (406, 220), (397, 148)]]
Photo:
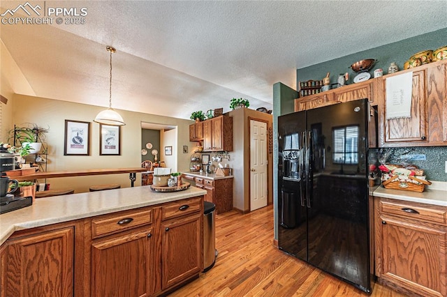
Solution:
[(295, 112), (364, 98), (367, 98), (371, 105), (378, 105), (376, 96), (374, 96), (379, 87), (376, 84), (378, 84), (378, 79), (369, 79), (366, 82), (341, 86), (337, 89), (296, 99)]

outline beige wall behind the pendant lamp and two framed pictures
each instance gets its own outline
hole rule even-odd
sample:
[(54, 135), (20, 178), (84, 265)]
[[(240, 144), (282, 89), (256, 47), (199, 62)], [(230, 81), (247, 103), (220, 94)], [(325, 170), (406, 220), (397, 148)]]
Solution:
[[(22, 123), (36, 123), (43, 128), (49, 128), (46, 139), (48, 144), (47, 171), (140, 167), (141, 122), (175, 125), (178, 130), (177, 144), (185, 144), (189, 147), (194, 144), (189, 142), (189, 124), (191, 123), (189, 120), (117, 110), (126, 123), (121, 130), (121, 155), (99, 155), (99, 124), (94, 123), (93, 119), (98, 112), (104, 109), (103, 107), (18, 94), (13, 96), (12, 103), (13, 121), (7, 123), (8, 127), (5, 127), (7, 130), (12, 129), (14, 124)], [(66, 119), (90, 123), (89, 156), (64, 155)], [(189, 155), (182, 154), (182, 151), (179, 150), (173, 151), (177, 158), (177, 166), (189, 168)], [(50, 188), (74, 188), (75, 192), (87, 192), (90, 185), (106, 183), (120, 183), (122, 188), (130, 186), (129, 174), (52, 178), (47, 179), (47, 183), (50, 183)], [(137, 174), (135, 185), (140, 184), (141, 174)]]

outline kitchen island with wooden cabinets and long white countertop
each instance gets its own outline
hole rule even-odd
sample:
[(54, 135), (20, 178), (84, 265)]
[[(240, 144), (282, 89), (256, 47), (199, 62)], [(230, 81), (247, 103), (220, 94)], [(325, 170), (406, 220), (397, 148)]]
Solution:
[(203, 195), (149, 186), (0, 215), (1, 296), (153, 296), (203, 269)]

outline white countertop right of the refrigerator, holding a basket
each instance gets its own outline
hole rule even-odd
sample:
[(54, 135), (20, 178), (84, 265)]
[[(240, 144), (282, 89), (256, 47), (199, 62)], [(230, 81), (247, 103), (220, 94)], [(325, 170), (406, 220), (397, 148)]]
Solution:
[(447, 206), (447, 182), (432, 181), (432, 185), (426, 185), (424, 192), (421, 193), (404, 190), (392, 190), (379, 186), (376, 190), (374, 190), (373, 195), (375, 197)]

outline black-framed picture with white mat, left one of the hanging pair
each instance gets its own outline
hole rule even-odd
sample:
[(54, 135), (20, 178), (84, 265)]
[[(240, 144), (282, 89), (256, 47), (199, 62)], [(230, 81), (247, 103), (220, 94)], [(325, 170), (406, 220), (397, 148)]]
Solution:
[(90, 155), (90, 123), (65, 120), (64, 155)]

